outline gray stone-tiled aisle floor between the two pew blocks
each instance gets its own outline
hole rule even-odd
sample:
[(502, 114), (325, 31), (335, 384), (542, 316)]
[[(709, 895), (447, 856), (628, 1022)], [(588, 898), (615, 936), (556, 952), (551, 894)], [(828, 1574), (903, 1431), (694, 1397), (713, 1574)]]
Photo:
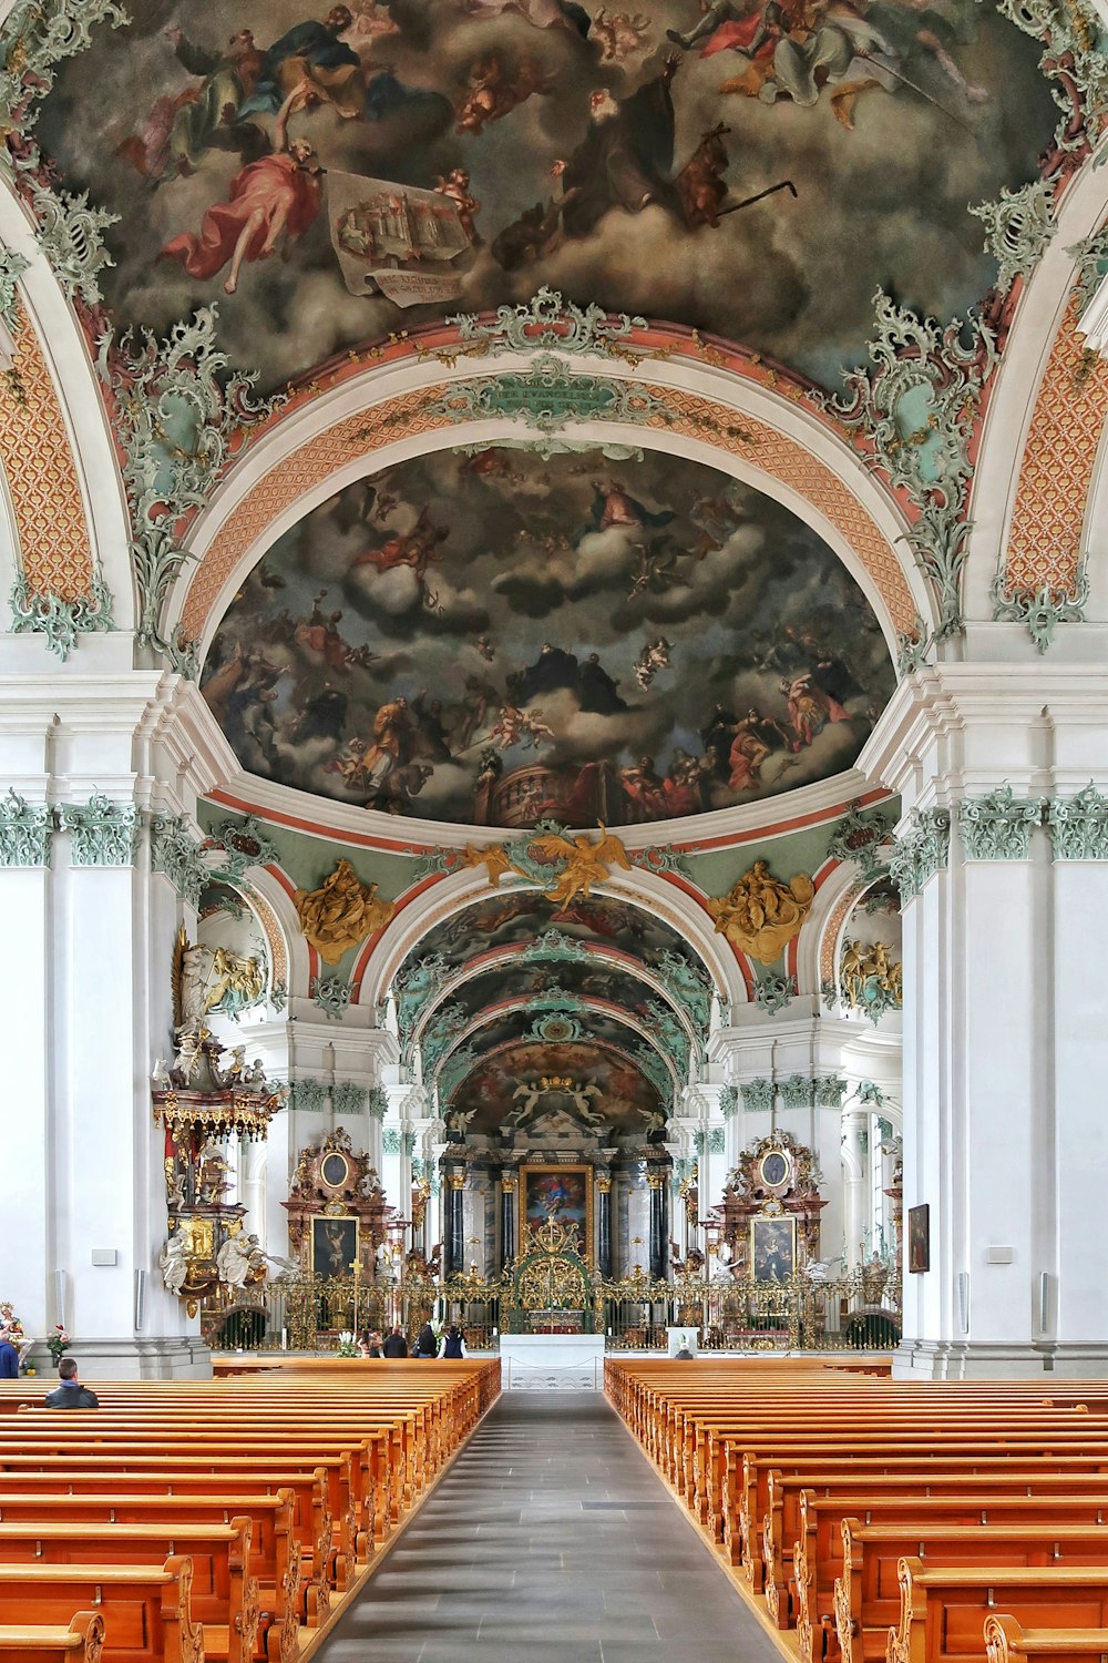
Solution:
[(321, 1663), (779, 1663), (600, 1392), (505, 1392)]

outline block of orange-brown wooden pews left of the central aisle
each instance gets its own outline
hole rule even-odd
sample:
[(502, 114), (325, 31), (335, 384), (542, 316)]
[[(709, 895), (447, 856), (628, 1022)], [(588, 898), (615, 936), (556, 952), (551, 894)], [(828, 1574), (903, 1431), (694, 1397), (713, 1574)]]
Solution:
[(296, 1663), (500, 1392), (498, 1362), (0, 1382), (0, 1663)]

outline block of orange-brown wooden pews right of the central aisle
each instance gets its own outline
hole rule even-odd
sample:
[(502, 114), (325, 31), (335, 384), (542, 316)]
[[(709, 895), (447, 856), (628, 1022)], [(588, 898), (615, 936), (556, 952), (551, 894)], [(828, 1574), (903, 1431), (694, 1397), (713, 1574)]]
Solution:
[(605, 1387), (802, 1663), (1108, 1663), (1108, 1382), (610, 1359)]

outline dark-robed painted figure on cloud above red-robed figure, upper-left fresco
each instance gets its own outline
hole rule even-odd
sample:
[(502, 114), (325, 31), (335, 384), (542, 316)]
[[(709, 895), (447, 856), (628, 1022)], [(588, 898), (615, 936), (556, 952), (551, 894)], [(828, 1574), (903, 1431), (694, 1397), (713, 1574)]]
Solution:
[(120, 145), (118, 155), (154, 186), (194, 173), (211, 148), (234, 150), (244, 160), (262, 155), (269, 148), (266, 133), (238, 118), (238, 108), (252, 93), (262, 63), (252, 30), (236, 30), (224, 52), (196, 45), (176, 25), (166, 30), (166, 40), (178, 63), (199, 76), (201, 85), (188, 86), (176, 98), (163, 95), (154, 100), (138, 131)]

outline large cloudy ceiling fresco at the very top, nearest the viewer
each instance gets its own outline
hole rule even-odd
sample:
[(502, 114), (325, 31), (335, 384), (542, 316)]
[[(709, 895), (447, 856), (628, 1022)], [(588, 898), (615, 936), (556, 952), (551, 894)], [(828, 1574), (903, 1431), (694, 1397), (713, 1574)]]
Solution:
[(968, 203), (1035, 175), (1038, 48), (977, 0), (130, 0), (40, 135), (120, 215), (105, 293), (219, 301), (274, 387), (457, 311), (578, 303), (817, 379), (872, 294), (947, 318), (993, 276)]

